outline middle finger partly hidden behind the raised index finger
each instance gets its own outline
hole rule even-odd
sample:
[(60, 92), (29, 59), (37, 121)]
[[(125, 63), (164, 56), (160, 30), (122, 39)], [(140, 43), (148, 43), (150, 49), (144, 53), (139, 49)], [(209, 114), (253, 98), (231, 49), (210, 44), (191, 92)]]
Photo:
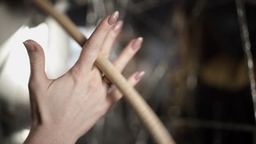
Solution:
[(109, 52), (113, 47), (115, 38), (117, 38), (117, 35), (120, 33), (122, 27), (123, 27), (123, 21), (118, 21), (117, 23), (115, 23), (115, 25), (110, 29), (106, 39), (104, 40), (101, 52), (106, 57), (109, 56)]

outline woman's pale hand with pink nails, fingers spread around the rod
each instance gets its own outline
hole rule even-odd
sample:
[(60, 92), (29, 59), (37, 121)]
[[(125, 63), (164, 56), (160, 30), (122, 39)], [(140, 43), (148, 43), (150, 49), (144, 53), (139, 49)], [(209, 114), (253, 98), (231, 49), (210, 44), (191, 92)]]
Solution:
[[(35, 41), (24, 42), (31, 64), (30, 90), (32, 127), (25, 143), (75, 143), (121, 97), (102, 79), (102, 71), (94, 62), (99, 52), (106, 57), (123, 25), (118, 12), (105, 17), (83, 46), (75, 65), (56, 80), (49, 80), (44, 71), (42, 47)], [(125, 65), (141, 47), (142, 38), (131, 40), (113, 64), (123, 71)], [(131, 85), (144, 72), (132, 74)]]

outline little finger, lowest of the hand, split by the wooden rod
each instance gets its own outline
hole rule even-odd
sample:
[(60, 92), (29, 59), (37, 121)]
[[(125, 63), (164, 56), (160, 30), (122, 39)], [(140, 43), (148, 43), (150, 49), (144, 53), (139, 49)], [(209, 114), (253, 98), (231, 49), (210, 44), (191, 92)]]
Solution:
[[(134, 74), (132, 74), (129, 78), (128, 78), (128, 82), (132, 85), (135, 86), (144, 76), (145, 71), (141, 71), (141, 72), (136, 72)], [(115, 104), (118, 100), (120, 100), (123, 97), (123, 93), (121, 93), (119, 91), (118, 88), (115, 88), (112, 92), (110, 92), (108, 94), (107, 100), (108, 100), (108, 106), (112, 106), (113, 104)]]

